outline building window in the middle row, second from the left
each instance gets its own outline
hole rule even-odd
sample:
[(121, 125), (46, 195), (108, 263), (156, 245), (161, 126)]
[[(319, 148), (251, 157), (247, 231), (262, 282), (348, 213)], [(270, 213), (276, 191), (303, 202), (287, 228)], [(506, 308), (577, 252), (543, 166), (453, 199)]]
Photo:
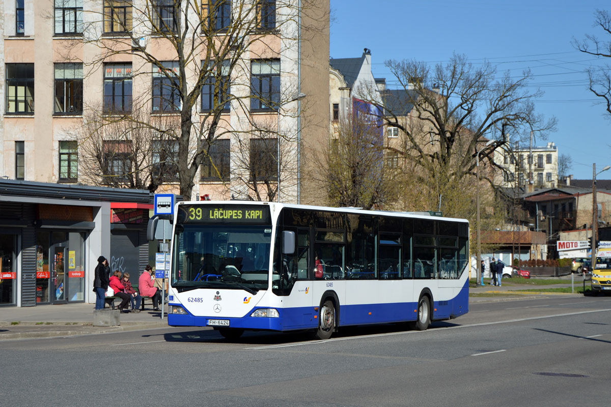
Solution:
[(54, 112), (82, 113), (82, 63), (55, 64)]

